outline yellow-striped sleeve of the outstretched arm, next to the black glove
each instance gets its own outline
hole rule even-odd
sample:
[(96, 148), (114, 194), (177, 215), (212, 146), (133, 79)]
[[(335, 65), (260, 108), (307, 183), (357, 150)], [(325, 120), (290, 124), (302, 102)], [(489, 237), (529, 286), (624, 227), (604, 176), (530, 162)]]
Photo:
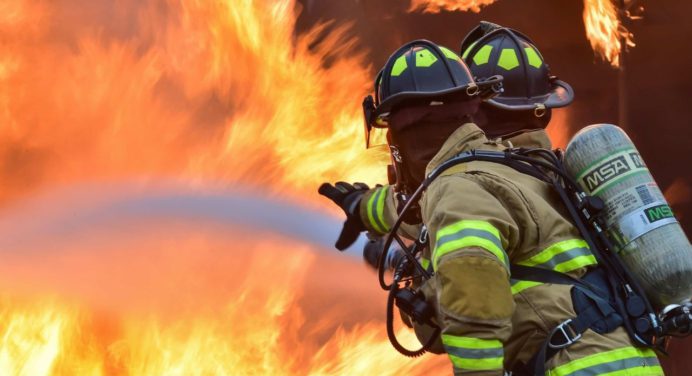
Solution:
[[(385, 185), (368, 190), (360, 201), (360, 218), (368, 231), (384, 235), (398, 218), (394, 187)], [(403, 224), (398, 234), (409, 239), (418, 238), (420, 226)]]

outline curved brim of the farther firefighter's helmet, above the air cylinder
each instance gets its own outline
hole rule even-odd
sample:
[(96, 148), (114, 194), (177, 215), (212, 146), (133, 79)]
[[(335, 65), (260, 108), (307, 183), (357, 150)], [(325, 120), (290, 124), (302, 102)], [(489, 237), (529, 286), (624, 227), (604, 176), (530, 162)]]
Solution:
[(551, 85), (550, 93), (547, 95), (532, 98), (496, 97), (486, 102), (493, 107), (509, 111), (533, 110), (537, 107), (560, 108), (572, 103), (574, 90), (568, 83), (555, 79), (551, 80)]

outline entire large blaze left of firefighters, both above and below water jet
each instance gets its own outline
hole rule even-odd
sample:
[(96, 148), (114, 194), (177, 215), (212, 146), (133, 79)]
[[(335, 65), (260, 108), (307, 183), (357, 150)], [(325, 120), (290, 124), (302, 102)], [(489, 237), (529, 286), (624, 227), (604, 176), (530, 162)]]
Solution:
[[(343, 26), (297, 34), (298, 12), (294, 0), (0, 1), (2, 224), (44, 192), (95, 182), (243, 185), (314, 206), (323, 181), (382, 182), (386, 153), (363, 148), (363, 52)], [(360, 264), (264, 233), (129, 222), (0, 250), (3, 374), (449, 369), (390, 348), (382, 310), (362, 311), (384, 296), (350, 292), (376, 288)], [(344, 268), (353, 280), (332, 280)]]

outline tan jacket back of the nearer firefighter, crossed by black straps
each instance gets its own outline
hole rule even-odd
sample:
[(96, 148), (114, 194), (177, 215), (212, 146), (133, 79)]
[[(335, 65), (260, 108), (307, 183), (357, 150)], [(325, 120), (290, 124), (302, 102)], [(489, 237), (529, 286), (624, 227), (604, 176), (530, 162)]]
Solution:
[[(497, 147), (488, 146), (488, 149)], [(455, 173), (491, 193), (518, 227), (507, 254), (513, 264), (540, 267), (581, 277), (597, 264), (588, 245), (568, 219), (560, 198), (548, 183), (492, 162), (470, 162)], [(489, 210), (492, 210), (489, 208)], [(505, 344), (505, 365), (527, 363), (559, 324), (576, 316), (571, 286), (511, 280), (515, 310), (512, 334)], [(573, 345), (547, 362), (555, 375), (598, 375), (632, 369), (661, 374), (653, 351), (639, 349), (620, 327), (608, 334), (587, 330)]]

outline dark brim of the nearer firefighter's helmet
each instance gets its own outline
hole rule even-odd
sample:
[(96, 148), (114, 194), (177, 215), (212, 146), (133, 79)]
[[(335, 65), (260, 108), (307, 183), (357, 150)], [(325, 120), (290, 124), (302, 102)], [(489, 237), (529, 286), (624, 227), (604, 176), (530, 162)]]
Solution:
[(484, 92), (492, 91), (493, 87), (497, 87), (502, 83), (501, 76), (493, 76), (482, 82), (476, 82), (472, 85), (454, 87), (446, 90), (434, 92), (420, 91), (402, 91), (387, 98), (375, 109), (374, 116), (387, 117), (388, 114), (396, 107), (406, 105), (420, 104), (421, 102), (434, 101), (464, 101), (482, 95)]

